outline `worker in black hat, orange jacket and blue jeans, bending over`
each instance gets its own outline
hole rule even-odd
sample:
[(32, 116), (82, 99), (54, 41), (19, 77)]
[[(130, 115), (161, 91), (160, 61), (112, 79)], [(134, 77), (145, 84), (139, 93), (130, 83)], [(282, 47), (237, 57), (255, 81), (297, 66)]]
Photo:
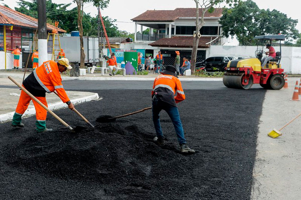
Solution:
[(195, 153), (193, 149), (190, 149), (186, 145), (180, 114), (176, 106), (176, 103), (182, 102), (185, 99), (181, 81), (176, 75), (176, 69), (172, 65), (167, 65), (165, 70), (160, 73), (162, 75), (159, 75), (154, 80), (151, 92), (153, 98), (153, 122), (157, 134), (154, 141), (161, 145), (165, 143), (166, 138), (160, 125), (160, 111), (165, 110), (175, 127), (181, 152)]

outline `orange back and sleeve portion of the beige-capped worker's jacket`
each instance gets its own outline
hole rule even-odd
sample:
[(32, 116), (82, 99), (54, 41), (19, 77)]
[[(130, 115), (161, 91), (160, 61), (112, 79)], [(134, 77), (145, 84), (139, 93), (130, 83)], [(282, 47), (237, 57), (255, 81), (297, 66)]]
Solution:
[(56, 90), (64, 103), (70, 101), (63, 88), (61, 74), (56, 62), (53, 60), (43, 62), (41, 66), (33, 71), (33, 75), (46, 92), (51, 93)]

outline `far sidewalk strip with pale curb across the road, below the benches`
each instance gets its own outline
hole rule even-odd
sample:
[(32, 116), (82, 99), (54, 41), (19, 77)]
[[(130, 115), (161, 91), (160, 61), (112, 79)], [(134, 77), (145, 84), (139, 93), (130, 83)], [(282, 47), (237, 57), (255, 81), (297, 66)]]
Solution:
[[(31, 72), (26, 72), (27, 77)], [(147, 74), (147, 75), (115, 75), (109, 76), (105, 74), (102, 76), (100, 73), (86, 74), (85, 76), (70, 77), (62, 74), (62, 80), (154, 80), (159, 74)], [(24, 72), (19, 71), (0, 71), (0, 78), (7, 78), (8, 76), (19, 78), (23, 80)], [(197, 76), (179, 76), (181, 81), (222, 81), (222, 78), (216, 77), (197, 77)]]

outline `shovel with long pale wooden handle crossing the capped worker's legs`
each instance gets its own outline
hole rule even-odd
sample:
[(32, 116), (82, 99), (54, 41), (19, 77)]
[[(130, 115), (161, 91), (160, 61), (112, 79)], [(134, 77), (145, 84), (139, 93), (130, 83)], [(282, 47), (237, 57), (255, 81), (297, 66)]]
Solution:
[(83, 126), (76, 126), (74, 129), (69, 126), (64, 120), (62, 120), (59, 116), (57, 116), (54, 112), (52, 112), (49, 108), (47, 108), (44, 104), (42, 104), (34, 95), (32, 95), (30, 92), (27, 91), (23, 86), (21, 86), (16, 80), (14, 80), (11, 76), (8, 76), (8, 78), (14, 82), (20, 89), (22, 89), (26, 94), (30, 96), (33, 100), (35, 100), (40, 106), (42, 106), (46, 111), (48, 111), (53, 117), (55, 117), (57, 120), (59, 120), (64, 126), (66, 126), (68, 129), (70, 129), (72, 132), (80, 132), (83, 129), (86, 129)]

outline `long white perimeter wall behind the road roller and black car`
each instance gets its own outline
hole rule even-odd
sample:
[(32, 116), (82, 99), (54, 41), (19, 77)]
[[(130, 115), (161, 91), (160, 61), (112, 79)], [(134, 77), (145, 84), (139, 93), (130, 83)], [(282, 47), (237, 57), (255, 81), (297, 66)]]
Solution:
[[(280, 47), (274, 47), (280, 51)], [(211, 46), (209, 56), (255, 57), (256, 46)], [(267, 51), (267, 49), (264, 49)], [(301, 47), (281, 47), (281, 67), (285, 72), (301, 74)], [(208, 55), (208, 52), (207, 54)]]

